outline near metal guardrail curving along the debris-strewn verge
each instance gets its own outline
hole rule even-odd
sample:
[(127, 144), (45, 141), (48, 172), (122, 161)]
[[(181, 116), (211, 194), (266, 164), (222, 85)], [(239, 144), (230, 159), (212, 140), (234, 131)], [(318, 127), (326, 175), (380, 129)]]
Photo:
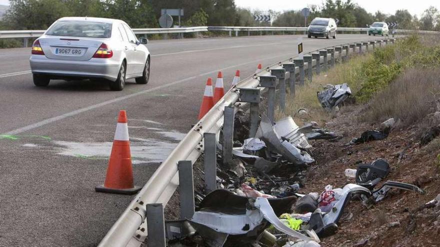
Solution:
[[(385, 39), (388, 40), (388, 39)], [(360, 46), (367, 45), (370, 41), (363, 41)], [(387, 41), (384, 43), (388, 43)], [(357, 42), (357, 44), (359, 44)], [(381, 44), (380, 44), (381, 45)], [(349, 45), (337, 45), (327, 48), (340, 47), (340, 52), (334, 52), (334, 57), (342, 59), (342, 53), (345, 56), (348, 55), (348, 48), (343, 47)], [(322, 48), (322, 49), (327, 49)], [(322, 50), (319, 49), (319, 50)], [(318, 50), (309, 52), (308, 54), (315, 53)], [(358, 49), (361, 51), (361, 48)], [(235, 88), (257, 88), (259, 86), (258, 76), (270, 75), (270, 69), (279, 68), (282, 63), (292, 62), (293, 58), (286, 59), (279, 63), (270, 65), (263, 68), (261, 71), (249, 76), (236, 84)], [(311, 64), (304, 63), (304, 69), (316, 64), (316, 66), (323, 64), (324, 59), (319, 57), (319, 62), (316, 59), (311, 60)], [(329, 60), (327, 63), (330, 62)], [(299, 69), (295, 69), (299, 72)], [(295, 73), (296, 75), (296, 73)], [(285, 74), (286, 78), (290, 77), (289, 72)], [(191, 161), (192, 164), (203, 153), (203, 134), (215, 133), (218, 135), (223, 125), (223, 109), (225, 106), (234, 106), (234, 110), (237, 111), (242, 108), (246, 103), (235, 104), (238, 100), (239, 94), (236, 90), (228, 90), (226, 94), (221, 98), (212, 108), (206, 113), (206, 115), (198, 121), (194, 127), (186, 134), (186, 136), (180, 141), (176, 148), (170, 153), (164, 162), (157, 168), (148, 182), (143, 186), (142, 190), (134, 197), (126, 210), (117, 219), (115, 224), (111, 227), (105, 237), (101, 240), (98, 247), (139, 247), (141, 243), (147, 237), (146, 231), (146, 205), (160, 203), (166, 205), (174, 191), (176, 190), (178, 182), (178, 169), (177, 163), (179, 161)]]

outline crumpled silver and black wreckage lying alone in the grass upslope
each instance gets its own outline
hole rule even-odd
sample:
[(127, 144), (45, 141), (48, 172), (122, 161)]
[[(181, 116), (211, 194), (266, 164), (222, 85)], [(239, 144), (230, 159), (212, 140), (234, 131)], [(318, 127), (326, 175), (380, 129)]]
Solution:
[(351, 95), (351, 90), (346, 83), (334, 85), (317, 93), (319, 103), (327, 110), (339, 105), (348, 98), (349, 95)]

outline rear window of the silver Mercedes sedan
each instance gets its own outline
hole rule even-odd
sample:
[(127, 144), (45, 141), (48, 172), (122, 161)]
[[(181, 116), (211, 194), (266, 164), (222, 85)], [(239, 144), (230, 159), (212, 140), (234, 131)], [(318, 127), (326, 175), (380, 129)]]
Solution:
[(109, 38), (111, 36), (111, 23), (61, 20), (55, 22), (46, 32), (46, 35)]

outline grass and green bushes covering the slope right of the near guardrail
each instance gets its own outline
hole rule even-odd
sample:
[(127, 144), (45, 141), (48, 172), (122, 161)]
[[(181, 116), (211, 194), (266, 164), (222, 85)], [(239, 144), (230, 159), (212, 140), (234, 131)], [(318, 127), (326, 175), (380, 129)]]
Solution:
[[(377, 48), (371, 53), (352, 55), (342, 64), (336, 64), (326, 74), (313, 76), (312, 82), (296, 87), (294, 99), (286, 102), (286, 111), (277, 111), (277, 117), (296, 116), (296, 121), (316, 121), (324, 124), (337, 112), (325, 111), (316, 92), (323, 85), (347, 83), (355, 105), (365, 105), (359, 121), (379, 123), (388, 118), (403, 124), (420, 122), (427, 114), (439, 111), (440, 102), (440, 42), (438, 37), (409, 36)], [(299, 109), (306, 109), (298, 116)], [(349, 111), (350, 106), (340, 108)]]

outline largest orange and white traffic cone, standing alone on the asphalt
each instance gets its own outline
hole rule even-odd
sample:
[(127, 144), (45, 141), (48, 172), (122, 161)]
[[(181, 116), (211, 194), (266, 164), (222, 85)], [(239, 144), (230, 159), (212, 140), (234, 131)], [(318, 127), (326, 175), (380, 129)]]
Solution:
[(95, 191), (132, 195), (140, 189), (133, 184), (127, 115), (125, 111), (119, 111), (107, 175), (104, 185), (96, 186)]

